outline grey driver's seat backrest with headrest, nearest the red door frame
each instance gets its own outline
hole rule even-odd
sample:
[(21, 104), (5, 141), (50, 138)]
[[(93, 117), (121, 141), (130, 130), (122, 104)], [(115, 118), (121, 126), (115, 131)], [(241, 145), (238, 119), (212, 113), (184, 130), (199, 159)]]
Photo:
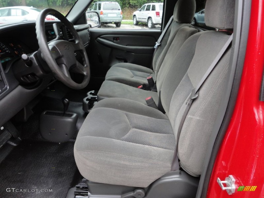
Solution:
[[(233, 29), (235, 0), (207, 0), (205, 22), (218, 29)], [(189, 37), (174, 56), (161, 87), (161, 103), (177, 137), (178, 127), (191, 90), (230, 35), (227, 31), (204, 31)], [(199, 89), (181, 129), (177, 154), (181, 167), (193, 176), (201, 174), (206, 146), (219, 111), (226, 83), (231, 48)], [(176, 141), (176, 140), (175, 140)]]

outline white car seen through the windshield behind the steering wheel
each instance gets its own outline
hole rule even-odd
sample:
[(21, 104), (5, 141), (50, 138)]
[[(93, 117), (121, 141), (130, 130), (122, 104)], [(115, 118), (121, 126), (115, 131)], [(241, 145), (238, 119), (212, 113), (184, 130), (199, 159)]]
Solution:
[[(0, 8), (0, 23), (12, 23), (20, 21), (36, 20), (41, 10), (28, 6), (13, 6)], [(57, 20), (48, 15), (46, 20)]]

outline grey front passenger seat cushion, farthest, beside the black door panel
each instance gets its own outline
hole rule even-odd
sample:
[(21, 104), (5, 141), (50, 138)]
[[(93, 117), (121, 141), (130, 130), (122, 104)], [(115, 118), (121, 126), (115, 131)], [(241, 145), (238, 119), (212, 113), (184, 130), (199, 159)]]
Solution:
[(105, 79), (138, 87), (143, 84), (148, 86), (147, 77), (150, 76), (155, 79), (152, 69), (131, 63), (117, 63), (109, 69)]

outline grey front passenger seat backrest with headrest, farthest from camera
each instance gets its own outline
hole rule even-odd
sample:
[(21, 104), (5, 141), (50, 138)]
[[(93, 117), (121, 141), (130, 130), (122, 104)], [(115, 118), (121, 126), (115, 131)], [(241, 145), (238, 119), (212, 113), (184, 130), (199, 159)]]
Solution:
[(183, 26), (191, 27), (190, 23), (194, 18), (195, 8), (195, 0), (178, 0), (175, 4), (173, 21), (153, 57), (153, 71), (156, 77), (177, 31)]

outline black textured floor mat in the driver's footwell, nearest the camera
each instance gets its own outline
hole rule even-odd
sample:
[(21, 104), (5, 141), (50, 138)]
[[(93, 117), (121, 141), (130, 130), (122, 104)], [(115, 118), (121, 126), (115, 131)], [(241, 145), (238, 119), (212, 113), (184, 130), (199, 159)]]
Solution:
[(0, 164), (0, 197), (65, 197), (81, 179), (75, 177), (73, 146), (22, 141)]

